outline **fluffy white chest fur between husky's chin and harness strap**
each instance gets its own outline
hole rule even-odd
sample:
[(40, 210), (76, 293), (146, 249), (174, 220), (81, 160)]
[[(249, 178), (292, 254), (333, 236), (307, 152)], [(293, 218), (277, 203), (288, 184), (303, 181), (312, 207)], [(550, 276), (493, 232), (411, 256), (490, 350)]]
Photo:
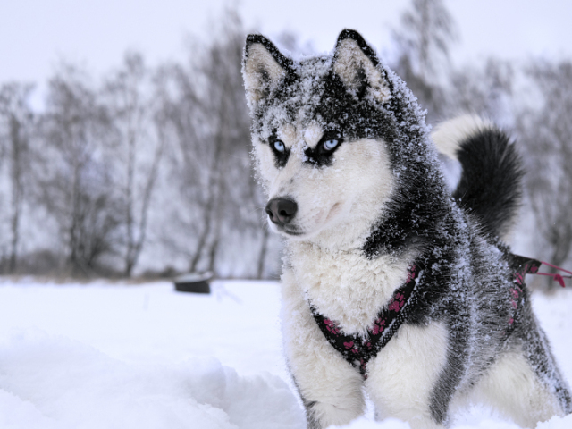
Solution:
[(359, 249), (333, 252), (304, 242), (290, 242), (288, 250), (305, 299), (348, 334), (366, 332), (405, 282), (412, 261), (390, 256), (369, 260)]

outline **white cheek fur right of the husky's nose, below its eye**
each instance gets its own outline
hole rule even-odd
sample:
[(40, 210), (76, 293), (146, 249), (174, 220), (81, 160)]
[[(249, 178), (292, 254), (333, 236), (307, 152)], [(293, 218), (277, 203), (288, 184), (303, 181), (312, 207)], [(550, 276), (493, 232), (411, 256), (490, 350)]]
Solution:
[[(344, 143), (333, 159), (329, 167), (304, 169), (291, 192), (299, 204), (301, 229), (320, 231), (311, 240), (335, 248), (364, 240), (391, 195), (393, 175), (382, 140)], [(334, 205), (335, 213), (327, 217)], [(315, 216), (318, 206), (324, 213)]]

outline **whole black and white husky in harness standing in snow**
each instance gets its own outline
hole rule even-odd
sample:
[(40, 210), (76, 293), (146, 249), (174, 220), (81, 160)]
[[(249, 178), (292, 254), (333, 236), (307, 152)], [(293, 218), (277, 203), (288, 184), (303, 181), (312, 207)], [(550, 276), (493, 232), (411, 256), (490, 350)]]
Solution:
[[(405, 83), (356, 31), (293, 60), (248, 35), (242, 73), (270, 227), (285, 239), (282, 331), (311, 429), (362, 415), (442, 428), (467, 400), (533, 427), (572, 411), (502, 240), (521, 164), (475, 116), (430, 135)], [(434, 141), (434, 144), (433, 144)], [(445, 185), (438, 151), (457, 159)]]

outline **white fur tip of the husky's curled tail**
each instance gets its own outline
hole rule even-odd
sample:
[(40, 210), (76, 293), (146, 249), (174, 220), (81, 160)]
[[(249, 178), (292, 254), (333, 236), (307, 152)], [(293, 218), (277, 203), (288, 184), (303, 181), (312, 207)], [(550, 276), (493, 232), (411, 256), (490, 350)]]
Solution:
[(442, 122), (431, 133), (433, 143), (443, 155), (457, 159), (457, 151), (463, 140), (480, 130), (496, 129), (489, 121), (474, 114), (464, 114)]

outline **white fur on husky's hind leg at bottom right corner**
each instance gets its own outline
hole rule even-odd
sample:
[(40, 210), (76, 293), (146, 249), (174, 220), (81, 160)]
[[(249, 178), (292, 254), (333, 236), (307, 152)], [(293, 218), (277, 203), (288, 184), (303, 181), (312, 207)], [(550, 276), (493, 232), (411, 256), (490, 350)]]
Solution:
[(538, 380), (520, 348), (499, 357), (475, 386), (475, 400), (498, 408), (522, 427), (563, 416), (553, 392)]

